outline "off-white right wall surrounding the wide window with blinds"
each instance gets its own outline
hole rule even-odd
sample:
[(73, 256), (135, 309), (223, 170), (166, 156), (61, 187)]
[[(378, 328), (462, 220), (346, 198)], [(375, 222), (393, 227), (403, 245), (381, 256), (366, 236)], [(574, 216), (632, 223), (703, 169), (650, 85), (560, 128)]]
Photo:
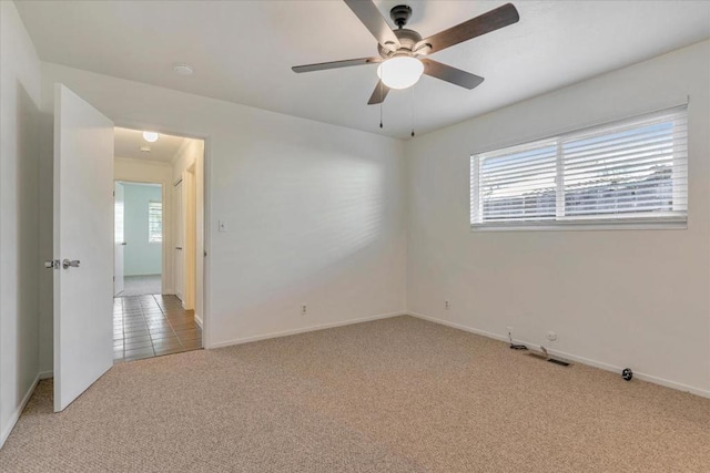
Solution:
[[(408, 142), (408, 309), (710, 394), (709, 93), (706, 41)], [(469, 230), (471, 153), (687, 95), (687, 230)]]

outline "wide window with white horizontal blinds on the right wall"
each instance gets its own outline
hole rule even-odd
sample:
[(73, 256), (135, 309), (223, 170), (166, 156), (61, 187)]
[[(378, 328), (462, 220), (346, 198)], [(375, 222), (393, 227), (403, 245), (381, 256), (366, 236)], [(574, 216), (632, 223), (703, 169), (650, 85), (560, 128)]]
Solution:
[(686, 106), (470, 157), (473, 228), (687, 216)]

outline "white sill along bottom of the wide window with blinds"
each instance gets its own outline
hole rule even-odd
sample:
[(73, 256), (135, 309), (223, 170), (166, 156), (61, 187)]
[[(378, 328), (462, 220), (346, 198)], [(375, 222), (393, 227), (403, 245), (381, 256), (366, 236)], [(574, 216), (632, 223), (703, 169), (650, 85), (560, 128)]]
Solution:
[(663, 220), (545, 222), (471, 225), (470, 232), (599, 232), (599, 230), (687, 230), (686, 218)]

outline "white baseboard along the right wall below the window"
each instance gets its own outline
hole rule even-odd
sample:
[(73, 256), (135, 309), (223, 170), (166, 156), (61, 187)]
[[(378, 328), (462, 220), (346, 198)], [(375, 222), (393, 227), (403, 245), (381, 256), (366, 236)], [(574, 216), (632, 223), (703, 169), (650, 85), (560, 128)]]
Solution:
[[(493, 338), (495, 340), (500, 340), (500, 341), (505, 341), (506, 343), (509, 342), (508, 337), (506, 336), (501, 336), (498, 333), (493, 333), (493, 332), (488, 332), (485, 330), (479, 330), (479, 329), (475, 329), (473, 327), (467, 327), (460, 323), (455, 323), (455, 322), (449, 322), (448, 320), (443, 320), (443, 319), (437, 319), (435, 317), (429, 317), (429, 316), (425, 316), (424, 313), (417, 313), (417, 312), (412, 312), (408, 311), (407, 312), (409, 316), (412, 317), (416, 317), (418, 319), (423, 319), (423, 320), (428, 320), (430, 322), (434, 323), (439, 323), (443, 326), (447, 326), (447, 327), (452, 327), (455, 329), (459, 329), (459, 330), (464, 330), (470, 333), (476, 333), (483, 337), (487, 337), (487, 338)], [(537, 346), (536, 343), (526, 341), (526, 340), (518, 340), (518, 339), (514, 339), (513, 340), (515, 343), (523, 343), (523, 345), (527, 345), (527, 346)], [(600, 370), (605, 370), (605, 371), (611, 371), (618, 374), (621, 374), (621, 371), (623, 370), (622, 367), (615, 367), (612, 364), (608, 364), (608, 363), (604, 363), (601, 361), (597, 361), (597, 360), (590, 360), (588, 358), (584, 358), (584, 357), (578, 357), (576, 354), (572, 353), (567, 353), (564, 351), (558, 351), (558, 350), (551, 350), (548, 349), (547, 351), (549, 351), (551, 354), (559, 357), (559, 358), (564, 358), (566, 360), (569, 361), (574, 361), (576, 363), (581, 363), (581, 364), (587, 364), (589, 367), (594, 367), (594, 368), (599, 368)], [(676, 389), (678, 391), (686, 391), (686, 392), (690, 392), (691, 394), (696, 394), (696, 395), (700, 395), (702, 398), (708, 398), (710, 399), (710, 391), (704, 390), (704, 389), (700, 389), (700, 388), (696, 388), (692, 385), (688, 385), (688, 384), (683, 384), (680, 382), (676, 382), (676, 381), (670, 381), (663, 378), (658, 378), (651, 374), (646, 374), (646, 373), (639, 373), (639, 372), (633, 372), (633, 378), (641, 380), (641, 381), (648, 381), (648, 382), (652, 382), (653, 384), (660, 384), (663, 385), (666, 388), (671, 388), (671, 389)]]

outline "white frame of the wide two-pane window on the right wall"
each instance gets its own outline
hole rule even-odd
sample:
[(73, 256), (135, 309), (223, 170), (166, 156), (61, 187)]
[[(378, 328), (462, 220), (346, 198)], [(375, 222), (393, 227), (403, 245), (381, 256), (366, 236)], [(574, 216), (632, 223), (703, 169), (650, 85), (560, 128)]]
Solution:
[[(578, 126), (571, 130), (567, 130), (560, 133), (550, 134), (545, 137), (530, 138), (517, 142), (515, 144), (501, 145), (489, 148), (488, 151), (479, 151), (471, 153), (469, 156), (469, 224), (471, 232), (506, 232), (506, 230), (628, 230), (628, 229), (687, 229), (689, 218), (689, 202), (684, 205), (684, 215), (671, 216), (671, 215), (657, 215), (657, 216), (633, 216), (629, 214), (612, 214), (612, 216), (605, 216), (604, 214), (597, 214), (589, 218), (577, 219), (560, 219), (565, 214), (565, 158), (561, 148), (565, 143), (574, 140), (580, 140), (590, 136), (598, 136), (604, 133), (612, 134), (617, 131), (621, 131), (625, 127), (631, 127), (635, 123), (642, 124), (643, 121), (651, 121), (655, 116), (682, 114), (686, 127), (688, 127), (688, 104), (679, 104), (674, 106), (659, 109), (652, 112), (639, 113), (623, 119), (617, 119), (612, 121), (600, 122), (597, 124), (589, 124)], [(669, 116), (670, 117), (670, 116)], [(686, 200), (689, 200), (689, 146), (688, 146), (688, 131), (686, 131), (686, 151), (678, 157), (681, 163), (678, 168), (686, 169)], [(480, 169), (481, 161), (495, 156), (498, 152), (501, 155), (514, 154), (516, 148), (531, 150), (541, 147), (545, 145), (556, 145), (556, 206), (555, 218), (539, 219), (539, 220), (510, 220), (510, 222), (488, 222), (488, 223), (475, 223), (475, 208), (478, 213), (483, 212), (483, 202), (480, 196), (480, 171), (476, 174), (477, 178), (474, 178), (474, 166), (478, 166)], [(488, 156), (485, 156), (488, 155)], [(493, 155), (493, 156), (490, 156)], [(674, 157), (676, 158), (676, 157)], [(676, 165), (673, 165), (676, 168)], [(561, 169), (561, 172), (560, 172)], [(682, 208), (682, 204), (681, 204)]]

